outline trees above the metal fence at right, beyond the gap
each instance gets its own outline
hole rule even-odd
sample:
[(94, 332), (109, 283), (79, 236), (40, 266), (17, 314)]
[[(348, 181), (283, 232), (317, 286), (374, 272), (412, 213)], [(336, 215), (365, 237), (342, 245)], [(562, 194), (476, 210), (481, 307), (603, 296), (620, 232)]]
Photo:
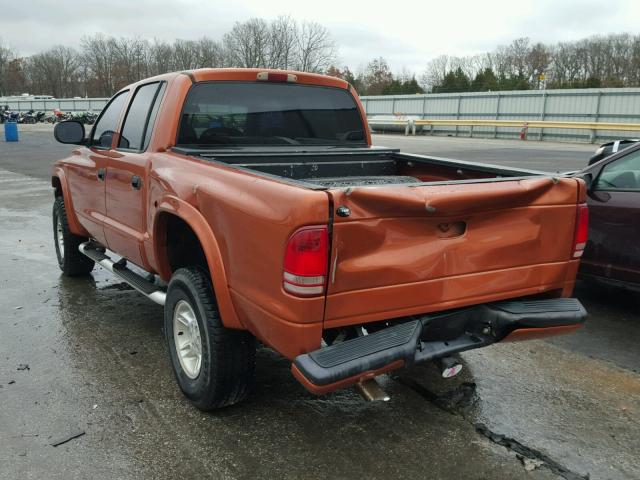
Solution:
[(493, 52), (442, 55), (421, 83), (431, 92), (640, 86), (640, 35), (593, 36), (553, 45), (519, 38)]

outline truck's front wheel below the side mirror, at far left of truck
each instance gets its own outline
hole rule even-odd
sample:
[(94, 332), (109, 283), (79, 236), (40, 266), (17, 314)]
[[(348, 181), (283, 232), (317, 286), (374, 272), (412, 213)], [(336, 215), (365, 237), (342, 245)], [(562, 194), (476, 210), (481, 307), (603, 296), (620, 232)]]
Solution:
[(64, 199), (56, 197), (53, 203), (53, 244), (56, 247), (58, 266), (63, 275), (77, 277), (88, 275), (93, 270), (95, 262), (78, 250), (78, 246), (87, 240), (69, 231)]

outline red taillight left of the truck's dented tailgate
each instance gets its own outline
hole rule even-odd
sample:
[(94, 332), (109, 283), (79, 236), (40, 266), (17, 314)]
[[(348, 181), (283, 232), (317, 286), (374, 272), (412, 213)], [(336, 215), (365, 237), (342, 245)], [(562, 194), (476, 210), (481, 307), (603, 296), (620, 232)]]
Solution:
[(299, 296), (323, 294), (328, 258), (329, 233), (326, 226), (296, 230), (285, 250), (284, 289)]

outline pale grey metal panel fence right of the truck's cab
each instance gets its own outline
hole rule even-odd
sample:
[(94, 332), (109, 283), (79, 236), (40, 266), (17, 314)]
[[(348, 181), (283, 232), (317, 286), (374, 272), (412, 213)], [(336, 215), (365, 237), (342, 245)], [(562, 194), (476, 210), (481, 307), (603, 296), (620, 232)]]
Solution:
[[(555, 122), (640, 123), (640, 88), (525, 90), (514, 92), (440, 93), (362, 97), (367, 117), (412, 116), (431, 120), (518, 120)], [(513, 138), (518, 127), (473, 128), (473, 136)], [(469, 135), (469, 126), (439, 125), (440, 135)], [(580, 129), (529, 128), (529, 138), (604, 140), (638, 137), (638, 132), (597, 130), (596, 138)]]

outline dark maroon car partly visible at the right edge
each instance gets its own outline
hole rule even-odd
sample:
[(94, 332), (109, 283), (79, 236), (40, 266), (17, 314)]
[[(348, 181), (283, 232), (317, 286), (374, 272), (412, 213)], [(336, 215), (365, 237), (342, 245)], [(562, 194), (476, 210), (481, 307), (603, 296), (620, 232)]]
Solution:
[(640, 143), (579, 173), (589, 192), (589, 240), (580, 275), (640, 289)]

